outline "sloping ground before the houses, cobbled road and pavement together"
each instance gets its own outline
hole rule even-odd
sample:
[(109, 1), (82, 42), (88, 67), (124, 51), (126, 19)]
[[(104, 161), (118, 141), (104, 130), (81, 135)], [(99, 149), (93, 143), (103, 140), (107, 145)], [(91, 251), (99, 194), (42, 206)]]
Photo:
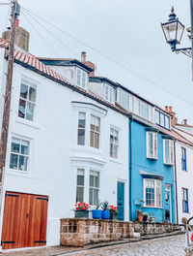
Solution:
[[(180, 235), (179, 235), (180, 234)], [(144, 236), (141, 239), (90, 244), (85, 247), (52, 246), (4, 251), (2, 256), (185, 256), (185, 236), (179, 232)], [(193, 254), (192, 254), (193, 255)]]

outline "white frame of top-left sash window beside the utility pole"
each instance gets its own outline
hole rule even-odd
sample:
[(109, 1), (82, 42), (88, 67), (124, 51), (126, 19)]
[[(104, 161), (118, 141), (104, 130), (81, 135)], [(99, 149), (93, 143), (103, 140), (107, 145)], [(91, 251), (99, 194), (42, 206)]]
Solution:
[[(32, 87), (36, 90), (36, 100), (35, 102), (33, 101), (30, 101), (29, 98), (28, 99), (25, 99), (25, 98), (22, 98), (20, 96), (20, 93), (21, 93), (21, 83), (24, 83), (26, 86), (28, 87)], [(19, 96), (18, 96), (18, 108), (17, 108), (17, 118), (18, 120), (22, 120), (24, 122), (29, 122), (29, 123), (34, 123), (37, 121), (37, 105), (38, 105), (38, 96), (39, 96), (39, 92), (38, 92), (38, 89), (39, 89), (39, 83), (35, 80), (32, 80), (28, 77), (22, 77), (21, 80), (20, 80), (20, 86), (19, 86)], [(33, 120), (30, 120), (30, 119), (27, 119), (26, 116), (25, 117), (21, 117), (18, 115), (19, 113), (19, 102), (20, 100), (22, 101), (25, 101), (26, 104), (29, 103), (29, 104), (33, 104), (34, 105), (34, 115), (33, 115)], [(27, 110), (27, 105), (26, 105), (26, 109), (25, 109), (25, 115), (26, 115), (26, 110)]]

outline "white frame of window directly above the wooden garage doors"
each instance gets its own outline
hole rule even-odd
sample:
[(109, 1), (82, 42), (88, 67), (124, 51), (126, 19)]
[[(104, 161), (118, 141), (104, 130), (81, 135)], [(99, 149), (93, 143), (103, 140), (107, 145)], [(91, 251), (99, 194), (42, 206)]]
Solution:
[[(28, 145), (28, 155), (26, 154), (22, 154), (22, 153), (17, 153), (17, 152), (13, 152), (12, 151), (12, 143), (13, 143), (13, 139), (15, 140), (19, 140), (20, 142), (21, 141), (24, 141), (24, 142), (27, 142), (29, 145)], [(17, 174), (29, 174), (30, 173), (30, 162), (31, 162), (31, 151), (32, 151), (32, 140), (29, 140), (27, 138), (24, 138), (24, 137), (21, 137), (21, 136), (17, 136), (17, 135), (12, 135), (11, 137), (11, 140), (10, 140), (10, 154), (9, 154), (9, 161), (8, 161), (8, 166), (9, 166), (9, 170), (11, 173), (17, 173)], [(11, 164), (11, 154), (16, 154), (18, 157), (21, 155), (21, 156), (26, 156), (27, 157), (27, 170), (19, 170), (19, 169), (14, 169), (14, 168), (11, 168), (10, 167), (10, 164)], [(19, 161), (19, 159), (18, 159)], [(17, 163), (17, 166), (18, 166), (18, 163)]]

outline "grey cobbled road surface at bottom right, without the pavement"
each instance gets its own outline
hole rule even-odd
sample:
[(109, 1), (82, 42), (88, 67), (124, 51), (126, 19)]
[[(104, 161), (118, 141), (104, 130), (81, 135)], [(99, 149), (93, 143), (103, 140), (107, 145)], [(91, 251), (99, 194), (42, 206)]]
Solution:
[[(156, 240), (143, 240), (132, 243), (124, 243), (69, 255), (102, 255), (102, 256), (185, 256), (185, 235), (168, 237)], [(67, 254), (66, 254), (67, 255)]]

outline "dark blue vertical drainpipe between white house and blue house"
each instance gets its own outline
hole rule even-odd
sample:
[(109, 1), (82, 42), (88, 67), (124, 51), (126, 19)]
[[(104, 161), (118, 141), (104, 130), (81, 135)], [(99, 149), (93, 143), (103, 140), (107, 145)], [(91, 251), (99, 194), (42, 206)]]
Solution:
[(129, 154), (128, 154), (128, 161), (129, 161), (129, 172), (128, 172), (128, 176), (129, 176), (129, 184), (128, 184), (128, 193), (129, 193), (129, 219), (132, 220), (132, 204), (131, 204), (131, 180), (132, 180), (132, 131), (131, 131), (131, 123), (133, 121), (132, 117), (129, 117)]

